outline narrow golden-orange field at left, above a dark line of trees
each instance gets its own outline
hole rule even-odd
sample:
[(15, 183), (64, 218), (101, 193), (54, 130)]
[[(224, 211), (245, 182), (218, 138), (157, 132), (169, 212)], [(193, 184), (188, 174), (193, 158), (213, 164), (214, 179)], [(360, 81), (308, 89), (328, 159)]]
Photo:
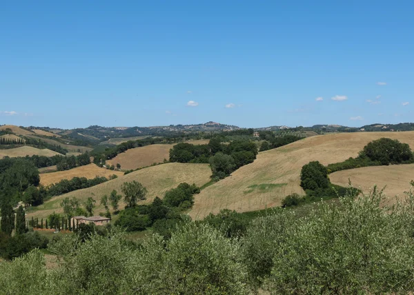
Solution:
[(93, 179), (95, 178), (95, 176), (104, 176), (106, 178), (109, 178), (109, 176), (113, 174), (117, 176), (122, 176), (124, 175), (124, 172), (108, 170), (105, 168), (98, 167), (93, 163), (90, 163), (89, 165), (76, 167), (66, 171), (41, 174), (40, 184), (47, 186), (52, 183), (58, 183), (62, 179), (72, 179), (74, 177), (86, 177), (87, 179)]

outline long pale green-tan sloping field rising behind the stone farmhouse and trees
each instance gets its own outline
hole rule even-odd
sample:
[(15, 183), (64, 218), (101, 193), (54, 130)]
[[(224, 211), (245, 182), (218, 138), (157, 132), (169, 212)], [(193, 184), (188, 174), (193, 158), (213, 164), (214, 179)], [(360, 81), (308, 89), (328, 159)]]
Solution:
[[(117, 190), (121, 193), (121, 185), (124, 182), (138, 181), (148, 189), (148, 195), (146, 201), (142, 201), (142, 204), (148, 204), (155, 196), (160, 198), (164, 197), (167, 190), (177, 187), (179, 183), (195, 183), (196, 185), (204, 185), (210, 181), (211, 170), (208, 164), (188, 164), (188, 163), (166, 163), (163, 165), (157, 165), (148, 167), (142, 170), (119, 176), (117, 179), (95, 185), (83, 190), (77, 190), (61, 196), (54, 196), (51, 200), (46, 201), (43, 205), (34, 207), (33, 212), (28, 212), (26, 218), (31, 216), (45, 218), (53, 212), (61, 213), (63, 210), (60, 207), (62, 199), (66, 197), (76, 197), (81, 202), (86, 201), (88, 197), (92, 197), (97, 201), (97, 207), (94, 210), (95, 214), (103, 212), (104, 208), (100, 205), (101, 197), (104, 194), (110, 194), (112, 190)], [(120, 208), (124, 208), (124, 203), (120, 202)]]

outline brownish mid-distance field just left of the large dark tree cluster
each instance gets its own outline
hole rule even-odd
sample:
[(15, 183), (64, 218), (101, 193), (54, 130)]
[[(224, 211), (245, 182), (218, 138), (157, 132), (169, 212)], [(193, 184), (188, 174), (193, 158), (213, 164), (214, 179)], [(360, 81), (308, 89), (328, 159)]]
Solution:
[[(201, 145), (208, 143), (208, 140), (188, 141), (195, 145)], [(157, 144), (146, 145), (141, 148), (133, 148), (118, 154), (114, 159), (106, 161), (109, 165), (116, 166), (117, 163), (121, 164), (121, 169), (130, 170), (141, 167), (147, 167), (153, 163), (162, 163), (164, 159), (170, 159), (170, 149), (174, 145)]]

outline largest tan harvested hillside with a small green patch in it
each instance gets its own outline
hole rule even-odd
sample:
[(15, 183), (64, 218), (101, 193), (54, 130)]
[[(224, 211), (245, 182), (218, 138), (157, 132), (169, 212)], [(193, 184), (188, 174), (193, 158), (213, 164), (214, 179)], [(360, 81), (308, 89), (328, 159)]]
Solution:
[(304, 194), (299, 186), (303, 165), (310, 161), (324, 165), (344, 161), (357, 156), (368, 142), (382, 137), (398, 139), (414, 148), (414, 132), (357, 132), (308, 137), (261, 152), (254, 163), (206, 187), (195, 196), (190, 216), (199, 219), (226, 208), (246, 212), (281, 205), (288, 194)]

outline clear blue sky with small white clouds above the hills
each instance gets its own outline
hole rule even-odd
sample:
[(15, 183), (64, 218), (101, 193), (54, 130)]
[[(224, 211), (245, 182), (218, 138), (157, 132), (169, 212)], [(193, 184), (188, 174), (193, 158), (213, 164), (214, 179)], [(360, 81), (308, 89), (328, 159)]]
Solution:
[(414, 121), (413, 10), (412, 1), (3, 1), (0, 124)]

